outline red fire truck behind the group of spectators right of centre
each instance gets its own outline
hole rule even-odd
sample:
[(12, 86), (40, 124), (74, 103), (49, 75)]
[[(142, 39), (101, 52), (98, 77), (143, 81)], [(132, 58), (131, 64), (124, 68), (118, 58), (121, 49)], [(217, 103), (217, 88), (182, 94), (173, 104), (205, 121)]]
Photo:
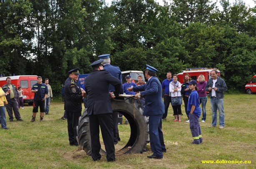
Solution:
[(211, 71), (212, 70), (217, 70), (218, 76), (221, 76), (221, 71), (219, 71), (216, 68), (188, 68), (186, 70), (183, 70), (181, 73), (178, 73), (178, 81), (182, 84), (184, 83), (184, 76), (185, 74), (189, 74), (189, 76), (191, 77), (191, 80), (195, 80), (198, 81), (198, 76), (199, 75), (203, 75), (205, 77), (205, 80), (208, 82), (208, 80), (211, 78)]

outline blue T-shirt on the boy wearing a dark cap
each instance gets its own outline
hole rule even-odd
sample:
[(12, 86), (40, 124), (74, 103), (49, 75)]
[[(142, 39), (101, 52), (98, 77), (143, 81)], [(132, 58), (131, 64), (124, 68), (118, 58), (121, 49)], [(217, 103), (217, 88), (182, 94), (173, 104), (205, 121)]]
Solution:
[(192, 91), (189, 95), (188, 98), (188, 108), (187, 111), (190, 113), (192, 105), (196, 106), (193, 114), (197, 115), (198, 118), (201, 115), (201, 108), (199, 107), (200, 103), (199, 103), (199, 96), (196, 90)]

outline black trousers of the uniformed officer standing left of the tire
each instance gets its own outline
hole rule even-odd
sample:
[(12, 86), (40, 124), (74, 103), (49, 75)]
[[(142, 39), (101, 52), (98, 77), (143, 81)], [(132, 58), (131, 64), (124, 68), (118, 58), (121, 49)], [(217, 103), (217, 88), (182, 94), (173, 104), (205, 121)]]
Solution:
[(76, 126), (78, 126), (79, 117), (81, 116), (81, 112), (69, 112), (67, 113), (67, 121), (68, 121), (68, 140), (70, 145), (78, 145), (76, 141)]

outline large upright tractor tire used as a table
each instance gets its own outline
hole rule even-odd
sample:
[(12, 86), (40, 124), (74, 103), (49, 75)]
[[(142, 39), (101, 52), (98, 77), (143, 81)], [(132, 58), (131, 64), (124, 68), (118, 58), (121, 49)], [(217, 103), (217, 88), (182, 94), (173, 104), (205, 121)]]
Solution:
[[(131, 127), (131, 135), (127, 144), (118, 150), (118, 154), (142, 153), (146, 151), (146, 144), (149, 142), (148, 137), (148, 118), (143, 116), (143, 110), (140, 103), (134, 103), (134, 98), (111, 99), (113, 111), (118, 111), (128, 120)], [(81, 149), (85, 150), (87, 155), (91, 155), (90, 145), (90, 122), (87, 115), (87, 109), (79, 119), (77, 126), (77, 141)], [(100, 154), (105, 154), (103, 149)]]

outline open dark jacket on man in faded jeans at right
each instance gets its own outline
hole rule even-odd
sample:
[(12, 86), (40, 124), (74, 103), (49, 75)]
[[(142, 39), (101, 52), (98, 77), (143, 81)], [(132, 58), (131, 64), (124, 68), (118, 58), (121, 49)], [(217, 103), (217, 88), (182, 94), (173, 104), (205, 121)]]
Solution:
[[(212, 87), (213, 87), (213, 79), (210, 78), (205, 88), (206, 91), (209, 92), (209, 98), (211, 98), (211, 91), (209, 91), (208, 88), (212, 88)], [(225, 81), (222, 78), (217, 77), (215, 87), (217, 88), (216, 98), (224, 98), (224, 91), (228, 90)]]

